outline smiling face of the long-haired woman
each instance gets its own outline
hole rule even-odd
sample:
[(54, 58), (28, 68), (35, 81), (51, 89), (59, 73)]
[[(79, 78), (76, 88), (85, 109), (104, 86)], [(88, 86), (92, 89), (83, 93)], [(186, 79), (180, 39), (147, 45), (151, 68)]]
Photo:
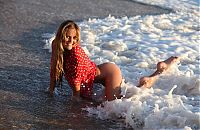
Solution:
[(62, 42), (63, 48), (67, 50), (71, 50), (78, 43), (78, 37), (76, 35), (76, 29), (68, 28), (64, 34), (64, 39)]

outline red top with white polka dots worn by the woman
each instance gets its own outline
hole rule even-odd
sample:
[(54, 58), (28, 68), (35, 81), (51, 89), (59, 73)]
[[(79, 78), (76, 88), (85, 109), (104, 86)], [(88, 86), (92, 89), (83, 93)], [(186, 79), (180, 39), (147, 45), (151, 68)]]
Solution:
[(78, 83), (81, 84), (80, 96), (91, 98), (96, 74), (95, 63), (89, 59), (79, 44), (72, 50), (65, 51), (63, 59), (65, 78), (70, 87), (74, 87)]

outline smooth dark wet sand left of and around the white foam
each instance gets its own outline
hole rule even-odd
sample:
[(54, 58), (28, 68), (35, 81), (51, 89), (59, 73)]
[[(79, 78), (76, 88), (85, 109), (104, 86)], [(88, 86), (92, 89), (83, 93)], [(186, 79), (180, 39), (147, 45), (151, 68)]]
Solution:
[(53, 98), (50, 53), (42, 34), (66, 20), (169, 13), (131, 0), (0, 0), (0, 129), (118, 129), (115, 122), (87, 117), (67, 95)]

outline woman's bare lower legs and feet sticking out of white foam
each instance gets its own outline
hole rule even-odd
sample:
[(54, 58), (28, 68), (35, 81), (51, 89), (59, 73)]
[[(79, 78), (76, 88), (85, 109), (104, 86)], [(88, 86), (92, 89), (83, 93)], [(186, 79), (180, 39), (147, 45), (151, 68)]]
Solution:
[(151, 74), (150, 76), (145, 76), (140, 78), (138, 87), (146, 87), (151, 88), (151, 86), (155, 83), (158, 79), (158, 76), (169, 70), (169, 67), (179, 60), (178, 57), (170, 57), (165, 61), (158, 62), (157, 70)]

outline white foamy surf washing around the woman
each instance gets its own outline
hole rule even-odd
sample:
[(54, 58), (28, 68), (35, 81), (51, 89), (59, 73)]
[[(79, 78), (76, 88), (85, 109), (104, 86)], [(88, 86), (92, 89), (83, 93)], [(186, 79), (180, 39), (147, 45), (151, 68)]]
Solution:
[[(113, 62), (122, 71), (124, 98), (83, 108), (88, 116), (114, 120), (134, 129), (200, 129), (200, 27), (197, 0), (137, 0), (171, 8), (170, 14), (86, 19), (81, 46), (96, 63)], [(56, 31), (56, 30), (55, 30)], [(51, 52), (55, 34), (44, 34)], [(151, 89), (137, 88), (138, 80), (159, 61), (180, 57)]]

